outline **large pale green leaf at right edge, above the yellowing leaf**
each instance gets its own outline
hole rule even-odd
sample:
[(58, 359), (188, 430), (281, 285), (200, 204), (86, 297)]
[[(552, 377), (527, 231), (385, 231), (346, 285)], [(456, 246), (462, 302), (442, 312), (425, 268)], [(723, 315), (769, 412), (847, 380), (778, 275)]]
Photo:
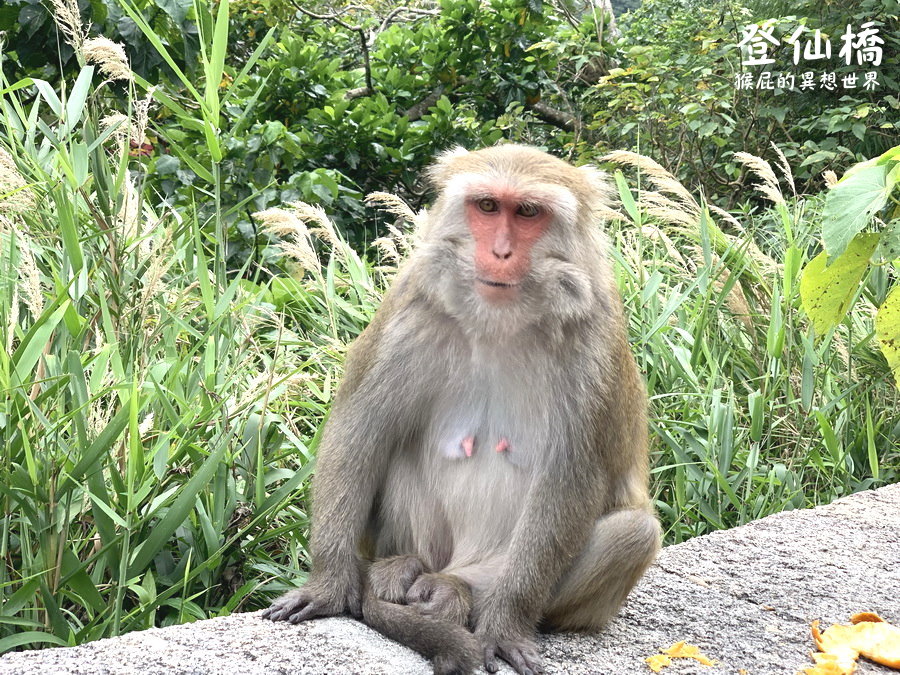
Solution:
[(831, 257), (844, 252), (847, 244), (884, 208), (894, 180), (888, 178), (890, 164), (871, 164), (848, 172), (825, 197), (822, 210), (822, 240)]

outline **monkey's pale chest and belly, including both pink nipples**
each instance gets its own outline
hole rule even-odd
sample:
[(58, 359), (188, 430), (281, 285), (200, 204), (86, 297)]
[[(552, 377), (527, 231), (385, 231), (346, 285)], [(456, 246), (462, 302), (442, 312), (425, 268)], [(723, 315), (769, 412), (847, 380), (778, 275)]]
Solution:
[(394, 459), (381, 555), (419, 553), (440, 569), (508, 546), (540, 462), (540, 415), (514, 393), (453, 393)]

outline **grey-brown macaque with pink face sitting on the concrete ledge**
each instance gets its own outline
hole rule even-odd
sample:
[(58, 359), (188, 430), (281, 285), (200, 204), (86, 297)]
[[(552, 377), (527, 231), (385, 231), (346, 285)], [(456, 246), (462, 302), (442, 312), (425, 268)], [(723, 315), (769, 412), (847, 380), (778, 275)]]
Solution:
[(659, 549), (608, 187), (521, 145), (430, 178), (322, 435), (309, 580), (263, 616), (349, 612), (436, 673), (542, 673), (536, 630), (600, 628)]

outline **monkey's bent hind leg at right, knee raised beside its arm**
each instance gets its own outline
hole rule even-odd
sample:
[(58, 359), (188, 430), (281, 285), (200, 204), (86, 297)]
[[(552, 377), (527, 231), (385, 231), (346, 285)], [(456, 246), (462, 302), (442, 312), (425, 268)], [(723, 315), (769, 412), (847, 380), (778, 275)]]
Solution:
[(541, 628), (601, 628), (653, 562), (659, 540), (659, 522), (646, 511), (614, 511), (600, 518), (557, 585)]

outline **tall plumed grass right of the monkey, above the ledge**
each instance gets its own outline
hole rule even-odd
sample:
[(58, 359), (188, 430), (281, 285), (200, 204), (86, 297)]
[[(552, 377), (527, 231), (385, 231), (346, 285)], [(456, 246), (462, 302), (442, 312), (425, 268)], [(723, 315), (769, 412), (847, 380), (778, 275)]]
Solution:
[(637, 197), (617, 172), (628, 218), (611, 235), (668, 542), (900, 480), (900, 396), (872, 339), (886, 278), (873, 273), (844, 324), (814, 339), (799, 281), (821, 250), (821, 199), (785, 197), (774, 150), (780, 177), (738, 155), (772, 202), (740, 219), (649, 158), (606, 158), (638, 170)]

